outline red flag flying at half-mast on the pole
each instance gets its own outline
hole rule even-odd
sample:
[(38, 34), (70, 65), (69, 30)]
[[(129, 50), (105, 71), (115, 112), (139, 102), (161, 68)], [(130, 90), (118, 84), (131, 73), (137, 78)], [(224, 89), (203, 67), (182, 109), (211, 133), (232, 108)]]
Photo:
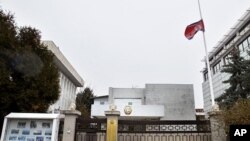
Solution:
[(186, 27), (186, 30), (185, 30), (185, 37), (187, 39), (192, 39), (194, 37), (194, 35), (198, 32), (198, 31), (205, 31), (205, 27), (204, 27), (204, 23), (203, 23), (203, 20), (201, 19), (200, 21), (198, 22), (195, 22), (195, 23), (192, 23), (190, 25), (188, 25)]

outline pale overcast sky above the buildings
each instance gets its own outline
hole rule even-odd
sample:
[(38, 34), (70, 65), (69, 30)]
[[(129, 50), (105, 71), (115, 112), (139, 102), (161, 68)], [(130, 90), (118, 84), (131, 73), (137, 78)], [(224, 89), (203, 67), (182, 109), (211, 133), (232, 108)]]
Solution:
[[(208, 51), (250, 7), (249, 0), (200, 0)], [(197, 0), (0, 0), (18, 26), (52, 40), (95, 95), (109, 87), (148, 83), (193, 84), (203, 107), (202, 32), (187, 40), (187, 25), (200, 20)]]

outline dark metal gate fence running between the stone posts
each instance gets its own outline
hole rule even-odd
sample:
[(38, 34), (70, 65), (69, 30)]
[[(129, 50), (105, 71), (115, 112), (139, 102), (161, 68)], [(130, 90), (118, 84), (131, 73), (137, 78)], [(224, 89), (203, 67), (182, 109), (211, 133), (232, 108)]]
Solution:
[[(75, 141), (106, 141), (106, 119), (79, 118)], [(211, 141), (210, 122), (118, 121), (118, 141)]]

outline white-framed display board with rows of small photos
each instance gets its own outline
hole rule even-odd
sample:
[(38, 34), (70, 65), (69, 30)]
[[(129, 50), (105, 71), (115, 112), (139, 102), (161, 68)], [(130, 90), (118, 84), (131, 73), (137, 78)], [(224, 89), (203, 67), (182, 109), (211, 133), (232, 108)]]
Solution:
[(11, 113), (5, 117), (1, 141), (57, 141), (59, 114)]

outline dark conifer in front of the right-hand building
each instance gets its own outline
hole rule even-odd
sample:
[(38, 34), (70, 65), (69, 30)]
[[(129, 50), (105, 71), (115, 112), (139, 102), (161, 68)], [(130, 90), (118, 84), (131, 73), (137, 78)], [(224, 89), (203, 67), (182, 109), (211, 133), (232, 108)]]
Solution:
[(247, 98), (247, 92), (243, 85), (246, 69), (246, 61), (240, 56), (240, 52), (234, 49), (228, 58), (228, 64), (224, 65), (221, 71), (230, 74), (229, 79), (223, 82), (229, 83), (230, 86), (224, 94), (216, 99), (220, 107), (230, 108), (238, 99)]

